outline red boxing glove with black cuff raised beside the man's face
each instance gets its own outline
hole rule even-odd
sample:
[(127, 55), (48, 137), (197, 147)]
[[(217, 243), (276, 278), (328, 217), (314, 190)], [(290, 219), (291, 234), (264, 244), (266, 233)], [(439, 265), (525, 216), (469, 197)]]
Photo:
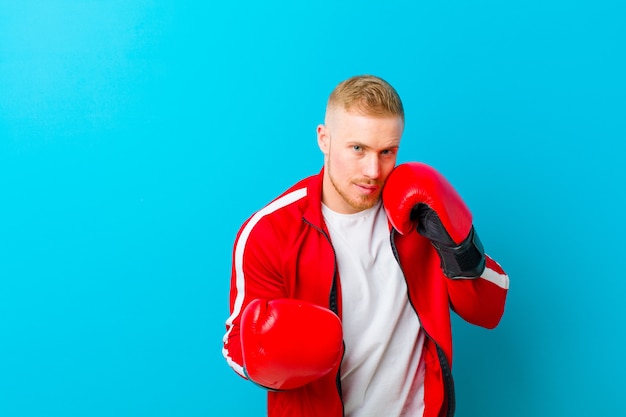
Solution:
[(398, 165), (387, 177), (382, 198), (389, 221), (400, 234), (416, 229), (430, 239), (447, 277), (482, 274), (485, 253), (472, 214), (434, 168), (418, 162)]

